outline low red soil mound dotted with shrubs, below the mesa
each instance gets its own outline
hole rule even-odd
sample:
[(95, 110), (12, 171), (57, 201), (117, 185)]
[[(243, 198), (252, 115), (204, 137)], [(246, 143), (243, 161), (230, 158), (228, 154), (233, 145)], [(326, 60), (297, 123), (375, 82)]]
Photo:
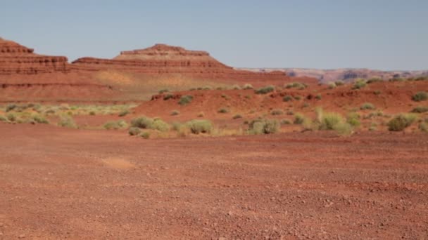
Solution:
[[(235, 114), (251, 118), (269, 113), (272, 109), (313, 114), (315, 107), (323, 107), (329, 112), (346, 114), (351, 109), (359, 109), (363, 103), (370, 102), (385, 114), (397, 114), (423, 105), (423, 102), (414, 102), (412, 95), (418, 91), (428, 91), (428, 82), (379, 82), (368, 84), (360, 90), (353, 90), (351, 87), (349, 84), (334, 89), (325, 85), (310, 86), (304, 90), (280, 89), (265, 95), (256, 94), (253, 90), (185, 91), (172, 93), (172, 98), (168, 100), (163, 98), (171, 93), (163, 93), (153, 95), (151, 101), (141, 103), (134, 112), (136, 115), (160, 116), (169, 121), (195, 119), (199, 112), (203, 112), (206, 119), (230, 120)], [(318, 94), (321, 96), (320, 100), (315, 98)], [(181, 106), (178, 101), (182, 95), (192, 95), (194, 99), (188, 105)], [(284, 102), (285, 95), (301, 96), (302, 99)], [(229, 109), (229, 113), (218, 113), (220, 108)], [(173, 110), (179, 110), (180, 115), (170, 116)]]

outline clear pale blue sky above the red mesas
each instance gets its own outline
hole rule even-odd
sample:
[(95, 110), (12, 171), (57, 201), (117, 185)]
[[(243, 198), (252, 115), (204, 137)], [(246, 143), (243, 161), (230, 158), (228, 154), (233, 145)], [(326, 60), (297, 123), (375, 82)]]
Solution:
[(113, 58), (156, 43), (234, 67), (428, 69), (427, 0), (1, 0), (0, 36)]

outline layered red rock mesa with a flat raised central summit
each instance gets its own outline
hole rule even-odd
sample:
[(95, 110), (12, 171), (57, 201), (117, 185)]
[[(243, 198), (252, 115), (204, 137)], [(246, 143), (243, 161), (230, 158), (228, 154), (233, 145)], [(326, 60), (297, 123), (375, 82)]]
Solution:
[(237, 81), (287, 81), (284, 72), (256, 73), (229, 67), (205, 51), (189, 51), (178, 46), (156, 44), (150, 48), (122, 51), (110, 59), (79, 58), (73, 68), (87, 71), (118, 69), (143, 74), (182, 74), (201, 79), (229, 79)]

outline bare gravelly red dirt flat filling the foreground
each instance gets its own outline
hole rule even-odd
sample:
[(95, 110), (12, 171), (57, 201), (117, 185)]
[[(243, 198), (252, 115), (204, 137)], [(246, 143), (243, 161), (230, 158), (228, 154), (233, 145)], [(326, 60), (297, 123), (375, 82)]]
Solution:
[(428, 135), (0, 132), (0, 239), (428, 238)]

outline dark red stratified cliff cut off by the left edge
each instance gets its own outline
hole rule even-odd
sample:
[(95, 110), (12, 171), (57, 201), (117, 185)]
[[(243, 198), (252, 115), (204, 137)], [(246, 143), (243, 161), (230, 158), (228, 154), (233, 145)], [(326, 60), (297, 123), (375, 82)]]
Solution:
[(60, 56), (38, 55), (13, 41), (0, 39), (0, 74), (68, 72), (68, 60)]

